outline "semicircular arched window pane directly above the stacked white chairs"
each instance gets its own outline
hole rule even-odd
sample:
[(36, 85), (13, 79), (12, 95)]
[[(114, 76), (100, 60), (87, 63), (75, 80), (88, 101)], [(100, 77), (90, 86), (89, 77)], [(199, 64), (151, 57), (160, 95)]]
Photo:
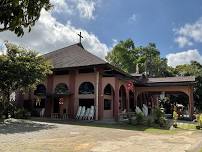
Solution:
[(91, 82), (83, 82), (79, 86), (79, 94), (94, 94), (94, 86)]

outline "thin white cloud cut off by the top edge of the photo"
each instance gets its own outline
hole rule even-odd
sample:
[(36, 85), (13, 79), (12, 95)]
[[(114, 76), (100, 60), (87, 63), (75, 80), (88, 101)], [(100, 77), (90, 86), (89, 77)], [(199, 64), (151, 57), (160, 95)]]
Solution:
[(84, 19), (94, 19), (95, 8), (99, 0), (51, 0), (54, 12), (77, 15)]

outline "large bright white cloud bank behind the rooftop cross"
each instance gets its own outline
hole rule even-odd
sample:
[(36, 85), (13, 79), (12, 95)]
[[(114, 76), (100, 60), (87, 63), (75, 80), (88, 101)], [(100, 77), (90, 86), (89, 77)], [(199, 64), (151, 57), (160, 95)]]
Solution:
[(77, 33), (80, 31), (84, 37), (82, 41), (84, 47), (93, 54), (104, 58), (109, 48), (106, 44), (100, 42), (93, 33), (74, 27), (70, 21), (64, 25), (58, 22), (50, 12), (44, 10), (30, 33), (25, 32), (23, 37), (17, 37), (12, 32), (3, 32), (0, 33), (0, 41), (8, 40), (45, 53), (78, 43)]

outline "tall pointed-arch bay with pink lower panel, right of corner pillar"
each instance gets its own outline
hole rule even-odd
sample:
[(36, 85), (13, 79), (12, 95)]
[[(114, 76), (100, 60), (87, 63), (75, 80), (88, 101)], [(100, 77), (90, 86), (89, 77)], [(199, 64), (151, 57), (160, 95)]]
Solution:
[(113, 118), (114, 89), (110, 84), (104, 88), (104, 119)]

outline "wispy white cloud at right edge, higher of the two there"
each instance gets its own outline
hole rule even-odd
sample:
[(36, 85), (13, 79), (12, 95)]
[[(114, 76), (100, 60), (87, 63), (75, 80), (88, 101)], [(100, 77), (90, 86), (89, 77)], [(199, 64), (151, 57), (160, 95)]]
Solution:
[(183, 27), (179, 29), (175, 29), (175, 34), (177, 38), (175, 42), (180, 46), (189, 46), (192, 45), (193, 42), (202, 42), (202, 17), (199, 18), (193, 24), (185, 24)]

